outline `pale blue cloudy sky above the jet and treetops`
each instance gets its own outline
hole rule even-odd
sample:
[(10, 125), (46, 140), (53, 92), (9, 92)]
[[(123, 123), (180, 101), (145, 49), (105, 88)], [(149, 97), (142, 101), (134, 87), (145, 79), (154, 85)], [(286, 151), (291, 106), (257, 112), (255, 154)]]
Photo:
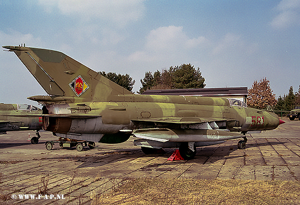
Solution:
[[(276, 96), (300, 85), (300, 0), (0, 0), (0, 44), (61, 51), (95, 71), (191, 63), (207, 88), (266, 77)], [(0, 52), (0, 102), (46, 93), (18, 58)]]

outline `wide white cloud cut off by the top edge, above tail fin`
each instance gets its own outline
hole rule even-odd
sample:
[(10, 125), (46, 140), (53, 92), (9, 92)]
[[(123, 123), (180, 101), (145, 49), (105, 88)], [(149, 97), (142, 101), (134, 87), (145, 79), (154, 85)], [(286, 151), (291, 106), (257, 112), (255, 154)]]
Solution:
[(105, 19), (124, 26), (144, 15), (144, 0), (39, 0), (45, 11), (58, 8), (65, 15), (83, 20)]

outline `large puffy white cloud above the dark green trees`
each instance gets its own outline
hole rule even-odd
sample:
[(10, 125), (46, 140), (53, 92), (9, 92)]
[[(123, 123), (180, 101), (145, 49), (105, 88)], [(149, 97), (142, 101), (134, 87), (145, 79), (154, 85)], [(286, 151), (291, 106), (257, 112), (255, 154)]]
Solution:
[[(242, 39), (234, 33), (225, 34), (213, 41), (204, 36), (190, 38), (182, 26), (165, 26), (151, 30), (146, 36), (145, 46), (129, 55), (129, 61), (151, 62), (196, 59), (203, 61), (208, 55), (239, 56), (254, 53), (259, 46)], [(214, 57), (213, 57), (214, 58)]]

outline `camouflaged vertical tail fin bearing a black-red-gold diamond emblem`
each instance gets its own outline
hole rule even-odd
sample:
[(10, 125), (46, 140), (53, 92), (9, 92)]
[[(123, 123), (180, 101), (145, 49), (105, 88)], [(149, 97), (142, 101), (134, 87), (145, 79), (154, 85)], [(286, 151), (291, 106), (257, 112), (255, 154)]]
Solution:
[(13, 51), (49, 95), (108, 101), (111, 95), (131, 94), (116, 83), (59, 51), (3, 46)]

